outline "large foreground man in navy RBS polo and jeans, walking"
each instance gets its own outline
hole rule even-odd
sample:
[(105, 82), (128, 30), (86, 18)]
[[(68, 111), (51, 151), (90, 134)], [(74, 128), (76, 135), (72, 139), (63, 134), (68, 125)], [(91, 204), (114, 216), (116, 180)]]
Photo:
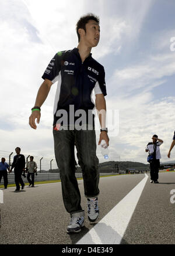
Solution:
[[(96, 156), (95, 121), (92, 110), (96, 105), (101, 125), (99, 144), (102, 139), (108, 145), (106, 128), (106, 95), (104, 67), (92, 57), (92, 47), (100, 39), (99, 18), (92, 13), (82, 16), (76, 24), (78, 46), (55, 54), (43, 74), (44, 82), (38, 90), (29, 124), (36, 129), (40, 121), (40, 108), (47, 98), (50, 87), (58, 81), (54, 104), (53, 135), (55, 158), (60, 168), (64, 205), (71, 215), (67, 233), (81, 231), (85, 212), (81, 207), (81, 194), (75, 178), (74, 146), (83, 172), (85, 196), (88, 203), (88, 219), (99, 216), (99, 159)], [(91, 95), (93, 89), (96, 104)], [(101, 111), (103, 110), (103, 114)]]

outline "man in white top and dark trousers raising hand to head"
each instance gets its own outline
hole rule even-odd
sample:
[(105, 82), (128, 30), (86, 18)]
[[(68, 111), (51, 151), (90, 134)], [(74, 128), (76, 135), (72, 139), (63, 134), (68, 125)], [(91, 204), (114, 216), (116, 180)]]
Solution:
[(152, 136), (152, 142), (149, 142), (145, 151), (149, 151), (149, 155), (153, 155), (153, 159), (150, 162), (150, 183), (159, 183), (159, 166), (160, 166), (160, 148), (159, 146), (162, 145), (162, 139), (159, 139), (158, 136), (155, 134)]

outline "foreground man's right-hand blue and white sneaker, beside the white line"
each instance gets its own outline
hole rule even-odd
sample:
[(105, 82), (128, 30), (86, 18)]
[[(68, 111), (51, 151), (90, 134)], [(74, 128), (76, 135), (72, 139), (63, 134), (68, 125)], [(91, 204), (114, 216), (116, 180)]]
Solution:
[(88, 198), (88, 219), (92, 222), (99, 217), (98, 197)]

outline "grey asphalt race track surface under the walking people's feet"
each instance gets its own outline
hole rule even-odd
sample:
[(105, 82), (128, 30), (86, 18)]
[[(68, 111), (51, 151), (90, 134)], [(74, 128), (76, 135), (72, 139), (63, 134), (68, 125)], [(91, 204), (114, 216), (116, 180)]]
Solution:
[[(137, 192), (136, 187), (143, 182)], [(87, 215), (83, 180), (78, 184)], [(175, 244), (175, 196), (170, 194), (172, 190), (175, 193), (174, 172), (159, 173), (159, 184), (150, 183), (149, 174), (100, 178), (99, 188), (98, 223), (89, 223), (86, 217), (81, 233), (71, 235), (66, 233), (70, 217), (62, 202), (60, 182), (25, 187), (19, 193), (14, 192), (15, 187), (2, 189), (0, 244), (79, 244), (86, 243), (88, 237), (92, 244), (113, 244), (117, 240), (110, 240), (110, 235), (117, 237), (119, 226), (123, 230), (120, 244)], [(134, 206), (132, 200), (136, 196)], [(125, 213), (120, 203), (125, 206)]]

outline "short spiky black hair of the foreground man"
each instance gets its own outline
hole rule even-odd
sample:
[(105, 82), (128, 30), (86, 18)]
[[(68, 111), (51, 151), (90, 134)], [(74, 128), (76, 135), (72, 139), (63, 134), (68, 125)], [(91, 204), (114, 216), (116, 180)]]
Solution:
[(76, 23), (76, 33), (78, 35), (78, 42), (80, 40), (80, 35), (78, 33), (78, 30), (84, 29), (86, 32), (86, 24), (89, 22), (90, 19), (92, 19), (93, 21), (96, 21), (99, 24), (99, 17), (94, 15), (93, 13), (87, 13), (86, 15), (81, 16), (79, 21)]

